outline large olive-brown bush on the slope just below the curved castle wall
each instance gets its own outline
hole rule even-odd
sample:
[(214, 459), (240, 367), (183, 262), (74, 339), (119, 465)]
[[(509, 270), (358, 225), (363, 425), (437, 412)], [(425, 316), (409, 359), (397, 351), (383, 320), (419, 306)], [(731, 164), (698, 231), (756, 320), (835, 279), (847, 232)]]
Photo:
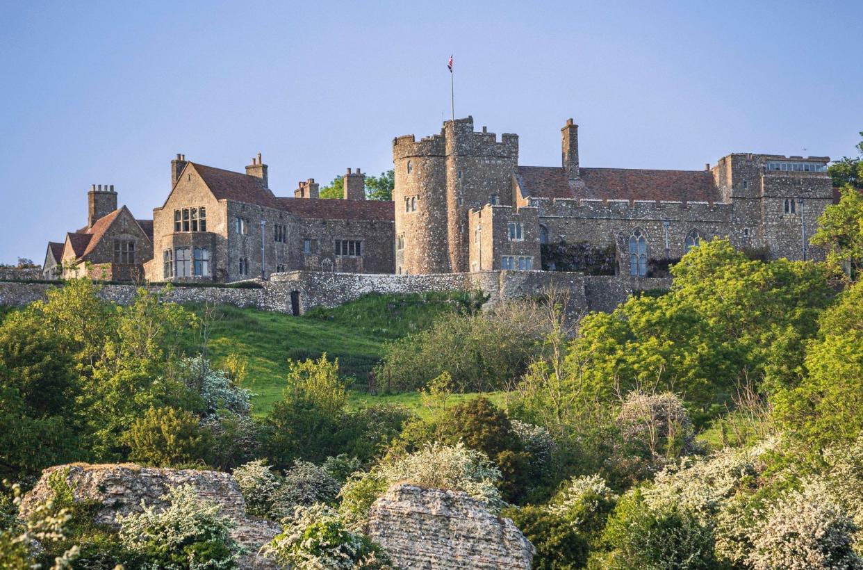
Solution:
[(375, 368), (384, 390), (416, 390), (448, 372), (457, 391), (501, 390), (513, 383), (545, 334), (531, 304), (490, 314), (444, 314), (428, 330), (387, 345)]

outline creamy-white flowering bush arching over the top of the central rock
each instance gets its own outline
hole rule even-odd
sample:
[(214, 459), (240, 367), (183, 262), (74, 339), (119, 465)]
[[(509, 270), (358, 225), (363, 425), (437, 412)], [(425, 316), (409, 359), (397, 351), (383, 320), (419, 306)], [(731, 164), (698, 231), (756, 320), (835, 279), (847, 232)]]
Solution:
[(505, 506), (496, 486), (500, 480), (500, 470), (485, 453), (467, 449), (461, 442), (455, 446), (435, 442), (419, 452), (387, 459), (371, 472), (355, 473), (339, 493), (340, 511), (350, 523), (362, 523), (375, 499), (390, 485), (404, 481), (429, 489), (464, 491), (497, 513)]

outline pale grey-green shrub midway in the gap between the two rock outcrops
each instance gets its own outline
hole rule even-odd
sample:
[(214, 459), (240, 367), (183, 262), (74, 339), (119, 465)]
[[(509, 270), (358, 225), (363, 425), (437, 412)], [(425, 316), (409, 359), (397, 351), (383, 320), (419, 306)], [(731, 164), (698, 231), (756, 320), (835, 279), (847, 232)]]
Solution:
[(290, 516), (297, 507), (312, 504), (333, 504), (341, 485), (323, 467), (307, 461), (297, 461), (281, 479), (273, 495), (269, 515), (280, 519)]

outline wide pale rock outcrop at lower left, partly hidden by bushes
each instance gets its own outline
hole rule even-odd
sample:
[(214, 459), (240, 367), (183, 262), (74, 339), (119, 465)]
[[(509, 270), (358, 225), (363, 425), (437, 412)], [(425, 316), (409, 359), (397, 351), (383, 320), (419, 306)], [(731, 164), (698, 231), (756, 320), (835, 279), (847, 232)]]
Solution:
[(168, 487), (191, 485), (198, 496), (222, 507), (222, 514), (236, 523), (231, 532), (234, 540), (247, 553), (241, 561), (243, 568), (274, 568), (271, 561), (257, 555), (258, 549), (269, 542), (280, 528), (265, 519), (246, 514), (246, 503), (240, 488), (229, 473), (197, 471), (194, 469), (159, 469), (142, 467), (134, 463), (90, 465), (73, 463), (49, 467), (32, 491), (23, 497), (21, 515), (27, 516), (40, 504), (54, 496), (48, 485), (53, 472), (68, 470), (66, 482), (76, 500), (92, 500), (103, 504), (96, 513), (96, 522), (117, 527), (115, 517), (141, 510), (142, 500), (148, 506), (164, 506), (161, 499)]

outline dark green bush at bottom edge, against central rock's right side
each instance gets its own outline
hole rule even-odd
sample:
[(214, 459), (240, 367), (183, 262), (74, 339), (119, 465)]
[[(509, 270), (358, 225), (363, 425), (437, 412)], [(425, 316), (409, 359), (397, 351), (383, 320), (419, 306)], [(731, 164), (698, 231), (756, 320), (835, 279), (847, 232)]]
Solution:
[(574, 570), (586, 564), (588, 542), (563, 517), (531, 505), (506, 509), (501, 515), (513, 519), (537, 549), (532, 563), (536, 570)]

